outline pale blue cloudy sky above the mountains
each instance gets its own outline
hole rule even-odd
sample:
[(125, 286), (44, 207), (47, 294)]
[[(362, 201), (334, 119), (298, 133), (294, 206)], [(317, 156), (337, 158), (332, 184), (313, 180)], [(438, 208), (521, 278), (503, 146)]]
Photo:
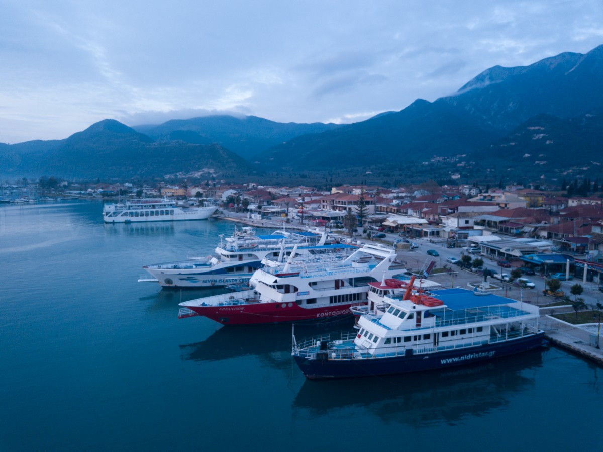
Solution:
[(210, 113), (361, 121), (603, 43), (603, 1), (0, 0), (0, 142)]

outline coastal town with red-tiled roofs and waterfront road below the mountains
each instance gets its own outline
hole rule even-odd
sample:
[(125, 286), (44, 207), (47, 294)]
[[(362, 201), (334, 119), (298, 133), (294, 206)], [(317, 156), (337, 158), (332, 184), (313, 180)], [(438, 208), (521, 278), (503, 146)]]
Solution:
[[(341, 243), (385, 244), (396, 249), (409, 270), (441, 287), (485, 281), (508, 298), (537, 305), (551, 342), (603, 362), (603, 197), (594, 184), (588, 196), (517, 185), (436, 183), (330, 190), (210, 181), (156, 187), (53, 185), (6, 184), (2, 198), (15, 203), (65, 198), (205, 203), (215, 206), (213, 217), (255, 228), (324, 231)], [(581, 320), (567, 322), (578, 315)]]

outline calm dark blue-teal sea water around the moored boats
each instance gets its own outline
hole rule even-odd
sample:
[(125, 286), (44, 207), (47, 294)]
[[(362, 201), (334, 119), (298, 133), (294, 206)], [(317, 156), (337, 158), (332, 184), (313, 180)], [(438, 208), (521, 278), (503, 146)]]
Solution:
[[(573, 451), (600, 444), (603, 369), (563, 351), (306, 381), (291, 326), (177, 319), (209, 291), (139, 283), (227, 221), (104, 225), (100, 203), (0, 206), (0, 450)], [(295, 326), (298, 336), (339, 325)]]

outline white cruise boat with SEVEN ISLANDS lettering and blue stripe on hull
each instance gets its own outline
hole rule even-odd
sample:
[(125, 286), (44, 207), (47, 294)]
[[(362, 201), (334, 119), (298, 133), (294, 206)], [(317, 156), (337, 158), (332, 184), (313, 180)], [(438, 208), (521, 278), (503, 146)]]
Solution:
[[(257, 235), (250, 226), (235, 228), (232, 237), (220, 235), (215, 255), (192, 257), (185, 261), (152, 264), (142, 267), (151, 278), (140, 278), (141, 282), (159, 282), (162, 287), (203, 288), (238, 285), (248, 282), (260, 268), (262, 259), (284, 259), (295, 245), (298, 252), (325, 246), (325, 232), (285, 232)], [(342, 249), (339, 245), (335, 249)]]

